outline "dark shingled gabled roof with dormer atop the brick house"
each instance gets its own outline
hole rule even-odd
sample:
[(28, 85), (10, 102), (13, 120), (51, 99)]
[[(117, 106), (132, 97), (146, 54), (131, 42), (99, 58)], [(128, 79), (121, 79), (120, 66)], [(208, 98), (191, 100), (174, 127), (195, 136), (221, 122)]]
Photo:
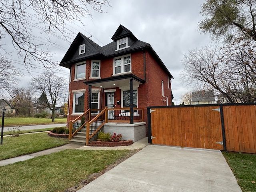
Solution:
[[(96, 56), (102, 56), (104, 57), (110, 57), (110, 56), (119, 56), (122, 54), (128, 54), (130, 52), (136, 51), (136, 50), (142, 50), (148, 48), (150, 52), (153, 54), (153, 56), (158, 60), (164, 70), (168, 72), (170, 75), (170, 78), (173, 78), (172, 74), (170, 74), (169, 70), (166, 68), (162, 60), (159, 58), (159, 56), (156, 54), (156, 52), (153, 50), (153, 48), (150, 46), (149, 43), (143, 42), (138, 40), (134, 34), (124, 26), (120, 25), (118, 29), (116, 30), (115, 34), (112, 36), (113, 40), (124, 38), (124, 37), (130, 37), (130, 44), (128, 48), (118, 50), (116, 41), (113, 41), (103, 47), (99, 46), (92, 40), (90, 40), (88, 37), (83, 35), (82, 33), (78, 33), (70, 47), (68, 48), (68, 51), (66, 52), (65, 56), (62, 58), (60, 62), (60, 66), (64, 66), (66, 68), (70, 68), (70, 63), (79, 62), (82, 60), (85, 60), (87, 58), (95, 58)], [(82, 38), (82, 39), (81, 39)], [(78, 51), (78, 45), (85, 44), (86, 46), (86, 53), (85, 54), (79, 54)]]

